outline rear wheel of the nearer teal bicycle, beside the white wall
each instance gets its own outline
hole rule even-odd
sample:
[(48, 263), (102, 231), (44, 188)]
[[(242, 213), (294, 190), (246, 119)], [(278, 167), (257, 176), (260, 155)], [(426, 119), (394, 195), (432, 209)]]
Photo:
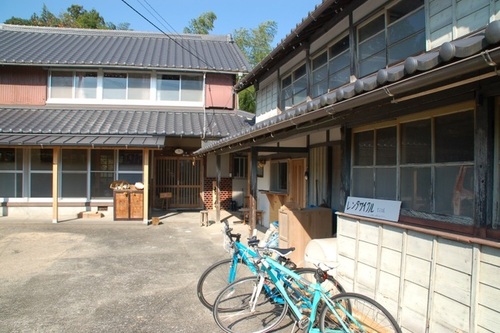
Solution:
[[(325, 306), (319, 317), (322, 333), (328, 332), (397, 332), (396, 319), (374, 299), (357, 293), (338, 294), (331, 298), (334, 310)], [(349, 306), (346, 306), (346, 305)], [(349, 309), (350, 308), (350, 309)]]

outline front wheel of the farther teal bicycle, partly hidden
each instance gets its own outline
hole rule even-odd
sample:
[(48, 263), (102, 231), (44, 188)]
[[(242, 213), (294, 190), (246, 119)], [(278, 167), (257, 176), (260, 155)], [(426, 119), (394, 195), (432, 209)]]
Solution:
[(236, 274), (234, 279), (230, 281), (230, 271), (233, 265), (233, 258), (223, 259), (218, 261), (208, 267), (200, 276), (198, 280), (198, 285), (196, 286), (196, 292), (200, 302), (212, 310), (215, 298), (222, 289), (224, 289), (229, 283), (236, 279), (255, 276), (254, 273), (248, 268), (248, 266), (242, 262), (238, 261), (236, 267)]

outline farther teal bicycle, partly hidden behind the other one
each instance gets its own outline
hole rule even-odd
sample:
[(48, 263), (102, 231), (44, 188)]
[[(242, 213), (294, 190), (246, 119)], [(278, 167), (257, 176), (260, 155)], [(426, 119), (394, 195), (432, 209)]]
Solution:
[[(259, 274), (259, 267), (255, 259), (259, 257), (251, 246), (241, 242), (241, 234), (232, 233), (227, 221), (224, 221), (224, 239), (226, 249), (231, 253), (230, 258), (220, 260), (208, 267), (200, 276), (196, 287), (200, 302), (212, 310), (216, 297), (228, 284), (243, 277), (255, 277)], [(258, 244), (256, 237), (249, 238), (252, 244)], [(314, 277), (314, 268), (296, 268), (296, 265), (283, 255), (277, 255), (278, 262), (294, 270), (297, 275), (311, 280)], [(331, 275), (327, 275), (322, 286), (332, 295), (345, 292), (344, 288)]]

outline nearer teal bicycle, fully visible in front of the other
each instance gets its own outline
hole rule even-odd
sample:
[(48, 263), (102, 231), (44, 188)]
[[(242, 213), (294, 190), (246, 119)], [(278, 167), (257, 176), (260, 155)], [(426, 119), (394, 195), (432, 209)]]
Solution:
[(257, 277), (239, 279), (217, 296), (213, 316), (228, 333), (261, 333), (275, 329), (289, 313), (294, 327), (318, 332), (397, 332), (394, 317), (378, 302), (357, 293), (332, 295), (322, 287), (325, 272), (316, 269), (315, 282), (304, 279), (256, 248)]

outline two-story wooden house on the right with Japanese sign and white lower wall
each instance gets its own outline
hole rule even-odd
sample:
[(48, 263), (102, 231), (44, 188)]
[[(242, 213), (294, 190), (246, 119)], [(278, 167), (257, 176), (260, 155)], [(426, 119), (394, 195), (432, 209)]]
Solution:
[[(494, 0), (325, 0), (238, 82), (255, 125), (196, 155), (247, 154), (265, 223), (338, 211), (337, 277), (404, 332), (496, 332), (499, 20)], [(348, 197), (399, 217), (346, 214)]]

